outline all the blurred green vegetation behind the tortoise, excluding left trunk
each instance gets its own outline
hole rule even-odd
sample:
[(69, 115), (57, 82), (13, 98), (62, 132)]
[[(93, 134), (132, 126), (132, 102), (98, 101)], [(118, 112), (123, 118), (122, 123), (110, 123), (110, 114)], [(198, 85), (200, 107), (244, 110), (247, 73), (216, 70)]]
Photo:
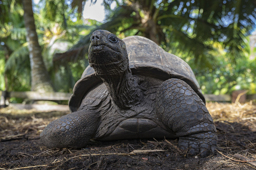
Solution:
[[(255, 41), (250, 46), (256, 39), (255, 0), (103, 0), (102, 22), (83, 18), (85, 2), (32, 2), (46, 74), (55, 91), (72, 92), (88, 66), (91, 33), (104, 29), (120, 38), (145, 36), (181, 57), (193, 69), (204, 94), (238, 89), (256, 93)], [(29, 91), (22, 0), (0, 0), (0, 13), (0, 90)]]

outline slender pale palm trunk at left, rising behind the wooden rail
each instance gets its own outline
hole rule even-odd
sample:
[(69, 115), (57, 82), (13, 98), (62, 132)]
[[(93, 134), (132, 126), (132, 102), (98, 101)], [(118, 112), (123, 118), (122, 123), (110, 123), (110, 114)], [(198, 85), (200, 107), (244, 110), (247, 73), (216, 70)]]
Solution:
[(41, 47), (38, 43), (34, 13), (31, 0), (22, 0), (24, 22), (27, 30), (27, 41), (31, 67), (31, 90), (38, 92), (53, 91), (52, 81), (44, 65)]

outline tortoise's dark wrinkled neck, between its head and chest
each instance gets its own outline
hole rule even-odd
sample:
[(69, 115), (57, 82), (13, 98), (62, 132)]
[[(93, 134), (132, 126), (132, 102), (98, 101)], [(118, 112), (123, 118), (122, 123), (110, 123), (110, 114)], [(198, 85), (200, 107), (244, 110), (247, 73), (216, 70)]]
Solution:
[(128, 68), (118, 75), (100, 76), (108, 88), (112, 101), (123, 109), (140, 103), (142, 94), (138, 82)]

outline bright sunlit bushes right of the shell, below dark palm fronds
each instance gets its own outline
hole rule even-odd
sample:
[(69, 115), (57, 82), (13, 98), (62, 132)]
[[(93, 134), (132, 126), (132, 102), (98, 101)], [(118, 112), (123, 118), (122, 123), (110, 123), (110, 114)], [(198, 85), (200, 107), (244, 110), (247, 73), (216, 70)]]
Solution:
[(200, 69), (191, 64), (203, 93), (222, 95), (240, 89), (248, 89), (248, 94), (256, 93), (255, 59), (240, 58), (232, 63), (225, 53), (216, 60), (217, 65), (212, 69)]

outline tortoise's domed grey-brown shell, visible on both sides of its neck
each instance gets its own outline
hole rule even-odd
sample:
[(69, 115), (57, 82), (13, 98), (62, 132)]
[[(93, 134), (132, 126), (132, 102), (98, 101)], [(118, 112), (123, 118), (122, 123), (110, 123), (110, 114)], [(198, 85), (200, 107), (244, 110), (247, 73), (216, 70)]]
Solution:
[[(204, 96), (189, 65), (176, 55), (167, 53), (154, 41), (141, 36), (129, 36), (123, 39), (126, 45), (129, 67), (132, 74), (140, 74), (161, 79), (178, 78), (197, 93), (205, 103)], [(84, 95), (97, 84), (102, 83), (92, 67), (84, 70), (82, 77), (74, 86), (68, 105), (71, 112), (79, 109)]]

